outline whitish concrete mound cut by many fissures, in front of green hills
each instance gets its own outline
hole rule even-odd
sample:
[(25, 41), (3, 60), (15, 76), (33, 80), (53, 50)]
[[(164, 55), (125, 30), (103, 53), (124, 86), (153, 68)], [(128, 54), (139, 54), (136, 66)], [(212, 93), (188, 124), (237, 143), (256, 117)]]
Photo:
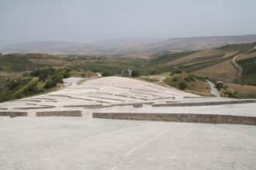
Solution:
[(81, 78), (71, 77), (64, 80), (70, 84), (62, 90), (46, 93), (36, 97), (13, 100), (0, 104), (1, 110), (43, 111), (47, 108), (58, 110), (63, 107), (85, 105), (118, 105), (145, 103), (150, 100), (172, 99), (172, 97), (195, 97), (192, 93), (175, 88), (161, 87), (152, 83), (130, 78), (110, 76), (86, 80), (78, 84)]

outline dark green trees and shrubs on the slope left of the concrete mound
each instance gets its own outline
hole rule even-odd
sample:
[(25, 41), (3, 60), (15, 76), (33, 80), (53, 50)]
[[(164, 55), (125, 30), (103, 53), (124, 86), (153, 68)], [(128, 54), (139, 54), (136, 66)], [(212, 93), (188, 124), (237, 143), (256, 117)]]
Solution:
[(52, 67), (33, 70), (24, 73), (17, 80), (12, 80), (0, 91), (0, 102), (29, 97), (36, 93), (43, 93), (62, 83), (64, 78), (71, 76), (70, 69), (55, 70)]

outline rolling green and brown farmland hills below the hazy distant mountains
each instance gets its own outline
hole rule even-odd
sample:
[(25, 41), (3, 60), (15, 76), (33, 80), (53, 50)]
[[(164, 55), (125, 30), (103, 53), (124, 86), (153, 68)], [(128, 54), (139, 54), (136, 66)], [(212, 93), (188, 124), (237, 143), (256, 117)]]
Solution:
[(110, 56), (51, 56), (47, 54), (9, 54), (0, 57), (0, 71), (19, 72), (45, 66), (73, 66), (75, 69), (92, 70), (109, 75), (118, 74), (123, 68), (138, 70), (140, 74), (168, 73), (182, 70), (196, 76), (207, 76), (226, 83), (237, 82), (237, 69), (232, 59), (243, 67), (242, 83), (255, 85), (255, 43), (228, 44), (213, 49), (156, 53), (151, 58)]

